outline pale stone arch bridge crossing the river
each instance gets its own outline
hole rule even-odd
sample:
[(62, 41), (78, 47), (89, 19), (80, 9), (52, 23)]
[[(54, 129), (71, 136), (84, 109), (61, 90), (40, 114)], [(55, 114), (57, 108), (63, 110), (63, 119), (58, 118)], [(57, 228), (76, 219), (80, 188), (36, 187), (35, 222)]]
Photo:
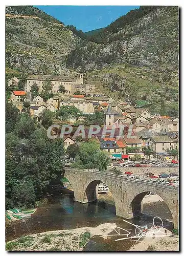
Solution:
[(73, 186), (75, 201), (81, 203), (97, 200), (97, 185), (100, 182), (106, 184), (114, 199), (116, 215), (125, 219), (131, 219), (137, 212), (142, 212), (142, 200), (151, 191), (160, 196), (168, 205), (172, 214), (174, 228), (178, 228), (179, 202), (177, 187), (152, 181), (135, 181), (95, 170), (75, 168), (65, 168), (64, 177)]

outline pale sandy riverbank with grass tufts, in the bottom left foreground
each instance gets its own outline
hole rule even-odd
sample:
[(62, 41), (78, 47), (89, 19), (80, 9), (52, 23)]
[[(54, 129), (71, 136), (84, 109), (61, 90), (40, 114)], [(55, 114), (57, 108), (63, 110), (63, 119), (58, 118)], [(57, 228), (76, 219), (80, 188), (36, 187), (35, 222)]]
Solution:
[(112, 232), (117, 225), (104, 223), (97, 227), (82, 227), (47, 231), (31, 236), (22, 237), (6, 243), (10, 251), (82, 251), (93, 236), (105, 236)]

